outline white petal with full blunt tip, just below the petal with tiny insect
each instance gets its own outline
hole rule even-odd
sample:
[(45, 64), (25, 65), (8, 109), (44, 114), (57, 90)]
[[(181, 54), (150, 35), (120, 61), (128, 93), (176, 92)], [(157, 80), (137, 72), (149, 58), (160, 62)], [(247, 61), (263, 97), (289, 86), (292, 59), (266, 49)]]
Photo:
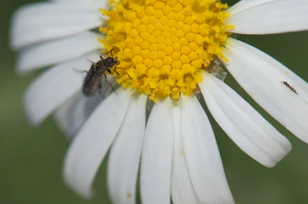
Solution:
[(233, 89), (205, 71), (202, 74), (199, 87), (219, 126), (249, 156), (274, 167), (290, 152), (291, 143)]

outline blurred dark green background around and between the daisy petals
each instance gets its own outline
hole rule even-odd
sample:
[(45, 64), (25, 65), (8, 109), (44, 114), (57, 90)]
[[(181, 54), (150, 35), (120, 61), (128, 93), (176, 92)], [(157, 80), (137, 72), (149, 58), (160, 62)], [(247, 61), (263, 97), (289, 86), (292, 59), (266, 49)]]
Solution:
[[(24, 76), (16, 75), (16, 55), (8, 48), (8, 28), (13, 10), (30, 2), (34, 1), (0, 3), (0, 204), (109, 203), (106, 162), (94, 183), (95, 197), (90, 201), (83, 200), (62, 182), (62, 161), (69, 142), (57, 129), (53, 118), (49, 117), (36, 129), (27, 123), (22, 95), (40, 71)], [(237, 1), (225, 2), (233, 5)], [(237, 35), (237, 38), (265, 51), (308, 81), (308, 32)], [(308, 145), (267, 115), (230, 74), (225, 82), (246, 98), (293, 144), (291, 153), (275, 168), (268, 169), (243, 153), (208, 114), (216, 133), (229, 186), (237, 203), (308, 203)]]

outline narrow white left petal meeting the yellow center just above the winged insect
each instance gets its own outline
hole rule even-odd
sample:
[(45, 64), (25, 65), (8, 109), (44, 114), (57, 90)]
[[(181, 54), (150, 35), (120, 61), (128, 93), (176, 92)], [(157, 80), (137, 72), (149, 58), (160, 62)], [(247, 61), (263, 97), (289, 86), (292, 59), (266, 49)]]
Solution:
[(22, 73), (27, 72), (103, 48), (103, 45), (97, 40), (98, 37), (100, 37), (99, 34), (83, 32), (22, 49), (18, 56), (17, 70)]

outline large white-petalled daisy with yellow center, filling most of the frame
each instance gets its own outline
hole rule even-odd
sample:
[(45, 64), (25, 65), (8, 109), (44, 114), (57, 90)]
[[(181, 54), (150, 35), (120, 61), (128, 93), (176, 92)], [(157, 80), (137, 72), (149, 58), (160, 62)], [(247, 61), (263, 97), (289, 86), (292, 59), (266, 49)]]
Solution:
[[(194, 95), (198, 87), (235, 144), (274, 167), (291, 150), (290, 142), (214, 77), (216, 71), (208, 73), (219, 68), (215, 57), (264, 110), (308, 142), (307, 83), (230, 37), (307, 30), (306, 0), (242, 0), (231, 8), (215, 0), (110, 4), (36, 3), (17, 10), (12, 22), (17, 70), (52, 66), (34, 81), (24, 101), (33, 125), (55, 112), (65, 133), (75, 135), (63, 171), (75, 192), (92, 196), (95, 174), (110, 148), (108, 189), (114, 203), (135, 203), (140, 161), (143, 203), (170, 203), (170, 197), (174, 203), (234, 203), (213, 130)], [(111, 49), (121, 69), (107, 79), (121, 87), (108, 96), (112, 90), (103, 80), (105, 99), (84, 96), (84, 74), (76, 69), (88, 70), (89, 59), (97, 62)], [(155, 105), (146, 122), (148, 95)]]

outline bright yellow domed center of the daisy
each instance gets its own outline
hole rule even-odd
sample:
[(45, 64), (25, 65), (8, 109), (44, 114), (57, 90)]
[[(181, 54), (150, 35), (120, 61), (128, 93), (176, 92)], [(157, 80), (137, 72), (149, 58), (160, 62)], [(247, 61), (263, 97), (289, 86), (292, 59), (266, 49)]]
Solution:
[[(110, 19), (100, 31), (106, 50), (115, 48), (118, 78), (124, 88), (158, 97), (190, 95), (202, 81), (200, 70), (210, 65), (229, 35), (223, 25), (226, 4), (215, 0), (110, 0), (101, 10)], [(227, 60), (227, 59), (225, 59)]]

